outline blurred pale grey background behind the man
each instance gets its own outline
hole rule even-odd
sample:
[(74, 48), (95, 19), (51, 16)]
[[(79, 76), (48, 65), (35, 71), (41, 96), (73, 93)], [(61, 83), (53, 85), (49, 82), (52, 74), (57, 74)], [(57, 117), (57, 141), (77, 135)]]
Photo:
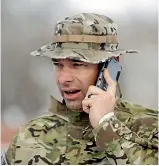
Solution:
[(80, 12), (105, 14), (118, 24), (120, 47), (140, 54), (120, 58), (123, 98), (148, 108), (158, 103), (157, 0), (2, 0), (2, 150), (17, 128), (47, 112), (49, 96), (61, 99), (54, 68), (30, 52), (52, 41), (54, 24)]

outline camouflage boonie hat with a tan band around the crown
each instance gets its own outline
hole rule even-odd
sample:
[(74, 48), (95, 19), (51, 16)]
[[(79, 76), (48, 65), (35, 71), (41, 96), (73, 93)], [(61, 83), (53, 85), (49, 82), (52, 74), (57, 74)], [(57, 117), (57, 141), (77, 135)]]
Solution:
[(100, 63), (112, 56), (138, 52), (118, 47), (117, 25), (110, 18), (82, 13), (58, 22), (55, 25), (53, 43), (41, 47), (31, 55)]

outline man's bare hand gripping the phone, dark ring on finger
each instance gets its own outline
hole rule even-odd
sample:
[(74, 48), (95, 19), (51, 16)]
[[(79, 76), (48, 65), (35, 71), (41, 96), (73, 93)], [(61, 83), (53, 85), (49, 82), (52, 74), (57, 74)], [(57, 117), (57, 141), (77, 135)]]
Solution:
[[(107, 91), (91, 85), (85, 99), (82, 101), (83, 111), (89, 114), (93, 128), (98, 126), (100, 119), (105, 114), (113, 112), (116, 102), (116, 83), (109, 76), (107, 69), (104, 70), (104, 78), (108, 83)], [(88, 98), (90, 94), (92, 95)]]

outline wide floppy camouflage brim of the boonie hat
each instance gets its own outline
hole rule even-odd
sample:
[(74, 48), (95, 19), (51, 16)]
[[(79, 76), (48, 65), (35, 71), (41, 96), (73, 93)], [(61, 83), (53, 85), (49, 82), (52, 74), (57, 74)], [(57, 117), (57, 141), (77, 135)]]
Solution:
[(72, 49), (72, 48), (55, 48), (51, 49), (50, 45), (45, 45), (40, 49), (31, 52), (32, 56), (45, 56), (51, 59), (75, 59), (87, 63), (101, 63), (110, 57), (118, 57), (126, 53), (138, 53), (137, 50), (101, 51), (94, 49)]

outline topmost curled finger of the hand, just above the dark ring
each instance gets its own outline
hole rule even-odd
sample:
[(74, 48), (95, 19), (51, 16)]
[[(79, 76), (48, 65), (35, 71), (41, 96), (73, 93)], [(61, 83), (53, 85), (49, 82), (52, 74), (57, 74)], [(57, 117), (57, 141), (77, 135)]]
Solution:
[[(99, 95), (99, 94), (104, 94), (104, 93), (105, 93), (105, 91), (103, 91), (102, 89), (100, 89), (100, 88), (98, 88), (96, 86), (91, 85), (88, 88), (88, 91), (87, 91), (87, 94), (86, 94), (86, 98), (88, 98), (88, 96), (90, 94), (92, 94), (92, 95)], [(91, 96), (91, 98), (92, 98), (92, 96)]]

